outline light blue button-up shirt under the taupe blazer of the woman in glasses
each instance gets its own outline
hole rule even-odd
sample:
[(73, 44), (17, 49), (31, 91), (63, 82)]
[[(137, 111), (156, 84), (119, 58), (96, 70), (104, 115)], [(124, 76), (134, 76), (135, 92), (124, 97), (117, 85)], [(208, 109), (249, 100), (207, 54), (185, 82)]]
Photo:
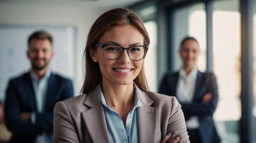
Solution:
[(108, 136), (110, 143), (138, 143), (139, 130), (137, 119), (137, 107), (141, 106), (137, 91), (135, 91), (135, 102), (132, 111), (128, 113), (126, 118), (126, 128), (121, 116), (116, 111), (112, 110), (105, 101), (101, 91), (101, 83), (99, 84), (99, 95), (103, 104), (105, 119), (108, 128)]

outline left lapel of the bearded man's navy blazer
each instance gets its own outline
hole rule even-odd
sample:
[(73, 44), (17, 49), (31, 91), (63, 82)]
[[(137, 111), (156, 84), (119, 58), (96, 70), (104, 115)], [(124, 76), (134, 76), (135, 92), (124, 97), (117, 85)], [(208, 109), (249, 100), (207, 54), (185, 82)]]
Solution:
[(26, 95), (27, 100), (29, 101), (32, 111), (36, 112), (37, 111), (36, 98), (35, 98), (35, 93), (32, 85), (32, 80), (29, 73), (26, 74), (24, 83), (27, 91), (27, 95)]

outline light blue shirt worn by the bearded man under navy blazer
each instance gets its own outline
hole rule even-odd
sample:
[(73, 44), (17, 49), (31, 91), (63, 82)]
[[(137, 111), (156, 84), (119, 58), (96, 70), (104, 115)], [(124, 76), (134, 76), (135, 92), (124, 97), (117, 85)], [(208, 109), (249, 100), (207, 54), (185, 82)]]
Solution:
[[(32, 85), (35, 94), (37, 112), (41, 113), (45, 111), (45, 102), (47, 96), (47, 87), (49, 78), (51, 76), (51, 69), (48, 69), (45, 75), (38, 79), (32, 71), (29, 72)], [(36, 124), (36, 113), (31, 114), (31, 124)], [(51, 143), (52, 139), (49, 139), (46, 133), (40, 134), (36, 137), (35, 143)]]

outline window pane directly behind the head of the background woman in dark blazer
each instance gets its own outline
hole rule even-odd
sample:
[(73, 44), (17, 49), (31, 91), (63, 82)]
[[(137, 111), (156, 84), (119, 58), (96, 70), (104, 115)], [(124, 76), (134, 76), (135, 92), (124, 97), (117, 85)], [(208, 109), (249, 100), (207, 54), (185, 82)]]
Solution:
[(200, 56), (198, 57), (197, 67), (201, 72), (206, 70), (206, 13), (204, 4), (195, 4), (182, 7), (173, 12), (172, 27), (172, 57), (173, 69), (179, 70), (182, 66), (180, 54), (180, 43), (186, 36), (195, 37), (200, 46)]

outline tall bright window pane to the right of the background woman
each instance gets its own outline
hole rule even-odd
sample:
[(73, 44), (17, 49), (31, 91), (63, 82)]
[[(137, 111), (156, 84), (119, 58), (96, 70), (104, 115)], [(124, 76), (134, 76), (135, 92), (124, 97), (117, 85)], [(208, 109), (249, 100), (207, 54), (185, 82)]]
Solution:
[(238, 0), (213, 2), (213, 72), (219, 102), (214, 113), (223, 142), (238, 143), (241, 118), (240, 12)]

